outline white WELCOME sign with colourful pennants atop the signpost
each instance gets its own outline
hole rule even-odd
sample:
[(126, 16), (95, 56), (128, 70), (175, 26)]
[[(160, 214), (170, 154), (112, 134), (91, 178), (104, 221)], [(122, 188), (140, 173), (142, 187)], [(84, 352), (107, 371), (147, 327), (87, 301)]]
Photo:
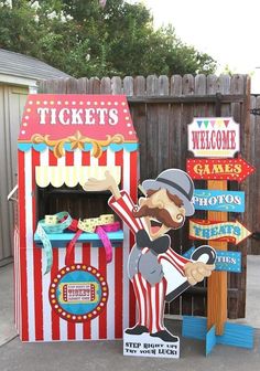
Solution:
[(239, 124), (232, 117), (194, 118), (187, 140), (195, 157), (230, 158), (240, 149)]

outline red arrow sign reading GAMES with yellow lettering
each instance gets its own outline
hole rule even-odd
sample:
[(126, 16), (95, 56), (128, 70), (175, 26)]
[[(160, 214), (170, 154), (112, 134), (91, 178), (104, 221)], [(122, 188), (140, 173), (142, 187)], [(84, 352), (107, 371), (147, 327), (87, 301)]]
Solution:
[(241, 182), (256, 171), (242, 158), (235, 159), (187, 159), (186, 170), (193, 179), (234, 180)]

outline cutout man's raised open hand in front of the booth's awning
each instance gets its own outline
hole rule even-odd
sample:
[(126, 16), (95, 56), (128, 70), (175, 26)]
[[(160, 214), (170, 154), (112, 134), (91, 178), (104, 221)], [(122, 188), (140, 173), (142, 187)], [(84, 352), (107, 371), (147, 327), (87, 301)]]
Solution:
[(83, 186), (83, 189), (87, 192), (110, 191), (116, 200), (121, 197), (117, 182), (108, 170), (105, 172), (105, 179), (99, 180), (96, 178), (89, 178)]

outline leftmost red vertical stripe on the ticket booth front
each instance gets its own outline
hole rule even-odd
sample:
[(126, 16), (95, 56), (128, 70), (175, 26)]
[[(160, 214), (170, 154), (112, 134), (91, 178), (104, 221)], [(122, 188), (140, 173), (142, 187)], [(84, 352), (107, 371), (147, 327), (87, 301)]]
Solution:
[(28, 324), (28, 282), (26, 282), (26, 227), (25, 227), (25, 179), (24, 159), (25, 153), (18, 151), (19, 163), (19, 225), (20, 225), (20, 267), (21, 267), (21, 310), (22, 310), (22, 331), (21, 339), (29, 340)]

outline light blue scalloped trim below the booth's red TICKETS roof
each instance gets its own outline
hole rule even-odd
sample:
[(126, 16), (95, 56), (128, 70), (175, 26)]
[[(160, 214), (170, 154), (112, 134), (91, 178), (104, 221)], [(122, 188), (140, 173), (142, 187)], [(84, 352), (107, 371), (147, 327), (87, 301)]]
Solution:
[[(128, 152), (132, 152), (132, 151), (136, 151), (138, 149), (139, 144), (138, 142), (124, 142), (122, 145), (111, 144), (107, 147), (102, 147), (102, 150), (106, 150), (108, 147), (113, 152), (118, 152), (121, 149), (124, 149)], [(31, 148), (35, 149), (39, 152), (43, 152), (46, 148), (50, 148), (51, 150), (53, 150), (53, 147), (48, 147), (45, 144), (18, 142), (18, 149), (23, 151), (23, 152), (29, 151)], [(74, 151), (71, 147), (71, 144), (65, 144), (64, 149), (66, 151)], [(84, 145), (84, 151), (90, 151), (91, 149), (93, 149), (93, 145), (90, 145), (90, 144), (85, 144)]]

